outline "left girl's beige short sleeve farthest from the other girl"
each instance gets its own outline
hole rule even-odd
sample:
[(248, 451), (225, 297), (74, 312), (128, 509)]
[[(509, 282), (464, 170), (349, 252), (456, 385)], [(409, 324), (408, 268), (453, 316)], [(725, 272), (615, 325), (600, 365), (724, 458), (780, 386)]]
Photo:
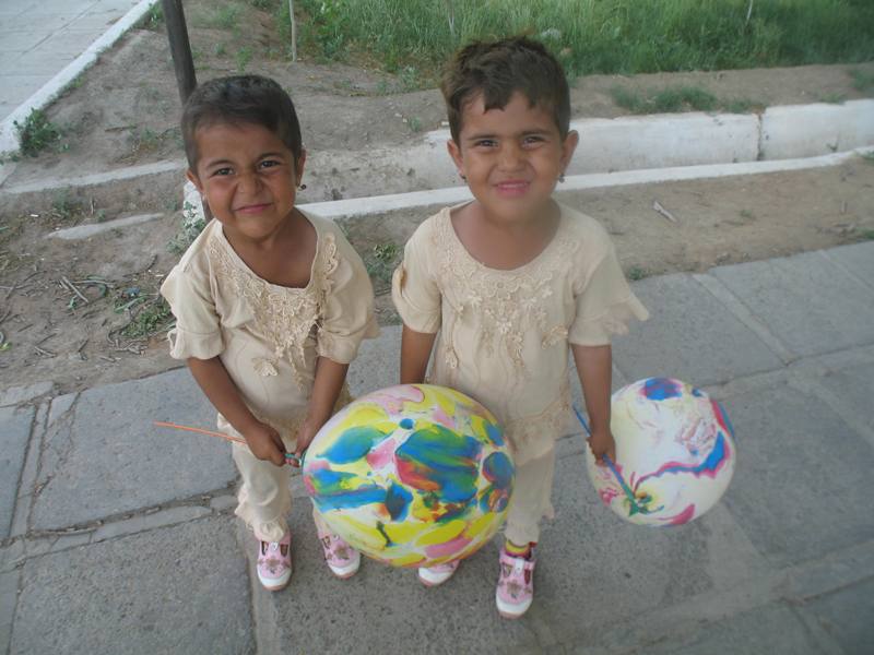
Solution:
[(161, 285), (176, 327), (167, 333), (170, 357), (175, 359), (212, 359), (224, 350), (224, 341), (210, 291), (210, 281), (191, 265), (179, 264)]

